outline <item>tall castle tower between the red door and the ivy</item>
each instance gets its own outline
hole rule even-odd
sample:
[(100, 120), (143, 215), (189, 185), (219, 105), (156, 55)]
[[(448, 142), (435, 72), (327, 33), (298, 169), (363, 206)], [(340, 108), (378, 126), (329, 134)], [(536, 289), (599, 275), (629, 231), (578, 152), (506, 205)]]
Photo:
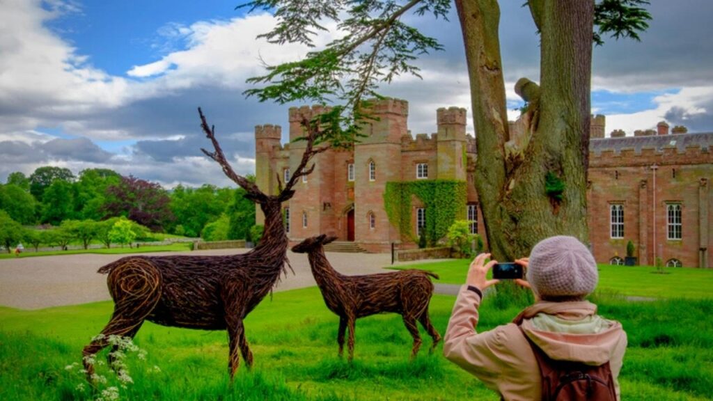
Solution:
[(371, 107), (376, 120), (364, 124), (366, 136), (354, 145), (354, 240), (365, 248), (383, 248), (401, 239), (384, 210), (384, 191), (387, 182), (403, 179), (401, 137), (408, 135), (409, 103), (385, 98)]

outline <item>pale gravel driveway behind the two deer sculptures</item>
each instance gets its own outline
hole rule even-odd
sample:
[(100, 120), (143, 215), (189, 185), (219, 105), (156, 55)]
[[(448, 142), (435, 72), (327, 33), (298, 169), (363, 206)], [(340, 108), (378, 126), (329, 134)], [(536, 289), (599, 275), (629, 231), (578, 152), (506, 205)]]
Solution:
[[(247, 249), (196, 250), (147, 253), (145, 255), (232, 255)], [(294, 269), (282, 276), (277, 291), (317, 285), (309, 270), (307, 255), (288, 251)], [(38, 256), (0, 260), (0, 305), (19, 309), (42, 309), (111, 299), (106, 275), (96, 270), (127, 255)], [(330, 263), (347, 275), (383, 272), (391, 264), (388, 253), (327, 253)], [(429, 262), (434, 260), (429, 260)]]

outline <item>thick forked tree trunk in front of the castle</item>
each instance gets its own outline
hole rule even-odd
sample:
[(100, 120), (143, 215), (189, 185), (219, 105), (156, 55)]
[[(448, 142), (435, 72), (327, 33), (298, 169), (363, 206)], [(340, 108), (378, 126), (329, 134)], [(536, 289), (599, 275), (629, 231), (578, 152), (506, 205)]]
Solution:
[[(590, 123), (593, 0), (530, 0), (540, 29), (541, 88), (527, 80), (523, 135), (508, 130), (496, 0), (457, 0), (476, 126), (476, 188), (488, 245), (498, 260), (528, 255), (566, 234), (588, 243), (586, 172)], [(535, 34), (533, 32), (533, 34)], [(548, 192), (545, 179), (563, 183)], [(561, 198), (561, 199), (558, 199)]]

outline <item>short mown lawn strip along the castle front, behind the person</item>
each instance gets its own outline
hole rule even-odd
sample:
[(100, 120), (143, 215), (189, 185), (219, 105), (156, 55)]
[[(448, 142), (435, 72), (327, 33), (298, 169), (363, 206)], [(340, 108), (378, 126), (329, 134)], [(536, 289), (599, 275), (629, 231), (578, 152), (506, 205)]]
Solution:
[[(396, 269), (416, 268), (437, 273), (436, 283), (465, 283), (471, 260), (403, 265)], [(650, 266), (599, 265), (597, 290), (606, 293), (650, 298), (713, 298), (713, 269), (664, 268), (658, 274)]]

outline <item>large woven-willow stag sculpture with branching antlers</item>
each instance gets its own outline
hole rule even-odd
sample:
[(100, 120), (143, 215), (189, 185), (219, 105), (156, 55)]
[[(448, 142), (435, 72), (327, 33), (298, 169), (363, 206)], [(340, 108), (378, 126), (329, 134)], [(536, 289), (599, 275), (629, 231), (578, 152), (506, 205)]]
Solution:
[[(230, 377), (240, 363), (238, 349), (247, 366), (252, 365), (243, 320), (272, 290), (281, 273), (286, 272), (285, 263), (289, 266), (282, 203), (294, 195), (292, 188), (297, 179), (314, 170), (314, 164), (305, 169), (309, 160), (327, 147), (313, 147), (319, 127), (304, 117), (307, 148), (302, 160), (284, 188), (279, 183), (279, 193), (268, 196), (232, 170), (215, 138), (215, 127), (208, 127), (200, 108), (198, 113), (201, 128), (214, 148), (213, 152), (201, 150), (219, 163), (225, 175), (247, 191), (245, 197), (259, 204), (265, 213), (262, 240), (250, 252), (240, 255), (128, 256), (100, 268), (99, 273), (108, 274), (114, 311), (102, 335), (83, 349), (84, 366), (90, 378), (93, 366), (87, 362), (88, 357), (106, 347), (110, 335), (133, 338), (145, 320), (179, 328), (227, 330)], [(108, 355), (110, 360), (112, 352)]]

